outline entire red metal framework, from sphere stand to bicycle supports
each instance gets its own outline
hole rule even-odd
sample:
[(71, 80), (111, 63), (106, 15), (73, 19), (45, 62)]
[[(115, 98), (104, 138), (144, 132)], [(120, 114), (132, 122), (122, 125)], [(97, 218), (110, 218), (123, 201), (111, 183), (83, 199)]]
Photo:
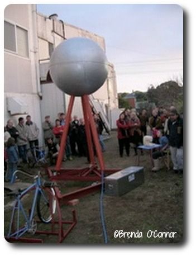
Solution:
[[(82, 107), (84, 113), (84, 121), (85, 121), (85, 132), (87, 136), (87, 144), (89, 151), (89, 167), (81, 168), (81, 169), (62, 169), (61, 163), (63, 160), (64, 152), (65, 152), (65, 144), (68, 136), (69, 124), (71, 120), (71, 111), (74, 105), (74, 96), (70, 97), (68, 112), (65, 117), (65, 129), (63, 131), (63, 135), (61, 137), (60, 150), (58, 159), (56, 162), (55, 170), (51, 170), (50, 168), (46, 168), (46, 173), (51, 181), (97, 181), (97, 183), (92, 184), (91, 186), (83, 187), (77, 189), (73, 192), (61, 194), (61, 191), (58, 187), (54, 187), (55, 190), (55, 200), (56, 206), (58, 210), (58, 220), (55, 220), (52, 217), (51, 220), (51, 231), (41, 231), (37, 230), (36, 234), (45, 234), (45, 235), (58, 235), (59, 243), (61, 243), (65, 237), (70, 233), (73, 227), (77, 224), (77, 218), (75, 214), (75, 210), (72, 211), (73, 220), (72, 221), (64, 221), (61, 214), (61, 206), (62, 205), (71, 205), (71, 200), (78, 199), (80, 197), (89, 195), (89, 193), (94, 193), (100, 190), (101, 188), (101, 173), (104, 172), (104, 175), (112, 174), (114, 172), (118, 172), (119, 169), (106, 169), (103, 160), (103, 154), (101, 150), (101, 145), (99, 143), (99, 138), (97, 134), (97, 129), (95, 127), (95, 122), (93, 120), (93, 113), (89, 104), (88, 95), (82, 96)], [(97, 159), (99, 163), (99, 168), (95, 161), (93, 143), (95, 147), (95, 152), (97, 154)], [(54, 195), (51, 195), (54, 197)], [(50, 203), (50, 211), (51, 210)], [(67, 230), (64, 230), (63, 225), (70, 225)], [(55, 231), (54, 226), (59, 225), (58, 231)], [(34, 238), (6, 238), (8, 241), (21, 241), (22, 243), (43, 243), (42, 239), (34, 239)]]

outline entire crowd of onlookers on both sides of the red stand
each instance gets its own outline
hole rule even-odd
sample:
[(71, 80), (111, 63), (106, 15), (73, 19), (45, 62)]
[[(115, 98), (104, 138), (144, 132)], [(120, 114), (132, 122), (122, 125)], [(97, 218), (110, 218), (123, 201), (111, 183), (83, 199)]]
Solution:
[[(104, 152), (106, 146), (103, 141), (103, 122), (98, 114), (94, 114), (94, 121), (101, 149)], [(45, 151), (49, 163), (56, 163), (58, 158), (61, 136), (65, 128), (65, 113), (59, 113), (55, 124), (50, 116), (45, 116), (42, 122), (44, 132)], [(149, 129), (147, 129), (149, 127)], [(27, 115), (18, 118), (16, 127), (12, 120), (7, 121), (4, 127), (4, 170), (5, 180), (11, 181), (12, 174), (17, 170), (18, 163), (28, 162), (27, 150), (30, 149), (32, 156), (39, 157), (39, 128)], [(149, 134), (150, 133), (150, 134)], [(152, 158), (154, 167), (152, 171), (160, 169), (159, 159), (170, 150), (173, 169), (176, 173), (183, 172), (183, 117), (179, 115), (174, 106), (166, 108), (154, 108), (151, 115), (147, 110), (138, 113), (135, 108), (123, 111), (117, 120), (117, 138), (119, 156), (123, 157), (125, 149), (127, 157), (130, 157), (130, 146), (134, 150), (134, 156), (138, 154), (138, 146), (143, 144), (144, 137), (151, 135), (152, 143), (160, 144), (159, 150), (154, 150)], [(141, 154), (143, 154), (142, 149)], [(95, 154), (95, 150), (94, 150)], [(68, 129), (68, 137), (65, 145), (63, 160), (73, 160), (73, 157), (86, 157), (89, 162), (87, 137), (83, 118), (73, 116)]]

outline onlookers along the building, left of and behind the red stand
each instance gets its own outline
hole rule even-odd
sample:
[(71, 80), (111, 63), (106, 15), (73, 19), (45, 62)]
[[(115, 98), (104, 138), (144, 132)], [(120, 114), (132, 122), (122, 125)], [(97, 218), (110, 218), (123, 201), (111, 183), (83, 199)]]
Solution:
[[(103, 122), (99, 118), (99, 114), (94, 114), (94, 121), (101, 149), (104, 152), (106, 147), (102, 135)], [(49, 115), (45, 116), (45, 120), (42, 122), (45, 153), (50, 165), (55, 164), (58, 158), (61, 136), (65, 126), (65, 113), (58, 114), (55, 124), (52, 123)], [(12, 174), (17, 170), (19, 163), (27, 164), (28, 148), (35, 159), (39, 158), (39, 128), (36, 123), (31, 120), (30, 115), (26, 116), (26, 121), (23, 117), (18, 118), (16, 127), (13, 125), (12, 120), (8, 120), (6, 127), (4, 127), (5, 181), (11, 182)], [(69, 124), (63, 160), (73, 160), (73, 156), (86, 157), (89, 161), (84, 119), (77, 116), (73, 116), (73, 120)]]

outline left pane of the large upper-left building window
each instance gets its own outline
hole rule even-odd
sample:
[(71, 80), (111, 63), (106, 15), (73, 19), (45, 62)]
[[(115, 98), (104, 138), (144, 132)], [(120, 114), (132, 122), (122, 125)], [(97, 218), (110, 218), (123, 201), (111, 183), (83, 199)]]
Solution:
[(4, 48), (11, 51), (16, 51), (16, 36), (15, 26), (4, 21)]

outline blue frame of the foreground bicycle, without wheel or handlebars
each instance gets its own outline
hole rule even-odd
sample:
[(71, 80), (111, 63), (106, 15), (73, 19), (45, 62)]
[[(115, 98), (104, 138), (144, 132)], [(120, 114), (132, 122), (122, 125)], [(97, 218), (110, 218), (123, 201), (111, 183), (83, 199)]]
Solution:
[[(40, 177), (36, 176), (35, 178), (36, 178), (36, 182), (34, 184), (32, 184), (30, 187), (28, 187), (27, 189), (25, 189), (25, 191), (21, 192), (20, 195), (17, 196), (15, 206), (13, 207), (13, 210), (12, 210), (11, 223), (9, 224), (8, 238), (14, 237), (14, 238), (18, 239), (23, 234), (25, 234), (28, 230), (30, 230), (32, 220), (34, 219), (34, 212), (35, 212), (35, 207), (36, 207), (37, 196), (39, 193), (42, 193), (42, 196), (45, 197), (44, 193), (42, 192)], [(32, 189), (35, 189), (35, 194), (34, 194), (34, 199), (32, 201), (30, 215), (27, 216), (25, 209), (23, 208), (21, 198)], [(16, 211), (17, 211), (17, 230), (14, 233), (11, 233), (13, 218), (15, 216)], [(20, 214), (21, 213), (22, 213), (23, 217), (25, 217), (26, 225), (24, 227), (20, 228)]]

